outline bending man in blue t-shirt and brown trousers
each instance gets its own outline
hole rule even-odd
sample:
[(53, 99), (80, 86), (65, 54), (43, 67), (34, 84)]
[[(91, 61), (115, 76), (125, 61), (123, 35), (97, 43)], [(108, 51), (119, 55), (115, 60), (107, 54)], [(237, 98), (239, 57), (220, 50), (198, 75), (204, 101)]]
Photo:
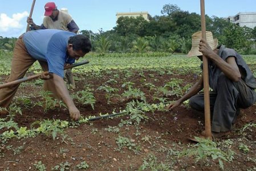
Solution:
[[(11, 74), (5, 80), (12, 82), (25, 76), (29, 67), (38, 60), (43, 71), (50, 75), (42, 75), (44, 90), (51, 91), (56, 99), (62, 99), (68, 107), (70, 117), (78, 120), (80, 112), (68, 94), (64, 83), (64, 65), (74, 63), (91, 51), (90, 40), (83, 35), (62, 30), (29, 31), (19, 37), (14, 47), (11, 62)], [(0, 89), (0, 107), (8, 107), (19, 84)]]

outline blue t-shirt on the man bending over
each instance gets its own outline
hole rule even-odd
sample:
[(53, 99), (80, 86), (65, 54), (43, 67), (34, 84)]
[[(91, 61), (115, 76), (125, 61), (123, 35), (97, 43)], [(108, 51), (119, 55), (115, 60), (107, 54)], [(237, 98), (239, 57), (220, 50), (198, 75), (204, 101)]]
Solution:
[(68, 58), (68, 38), (76, 35), (74, 32), (55, 29), (34, 30), (23, 35), (23, 41), (32, 58), (48, 63), (50, 73), (64, 77), (64, 64), (74, 63), (74, 58)]

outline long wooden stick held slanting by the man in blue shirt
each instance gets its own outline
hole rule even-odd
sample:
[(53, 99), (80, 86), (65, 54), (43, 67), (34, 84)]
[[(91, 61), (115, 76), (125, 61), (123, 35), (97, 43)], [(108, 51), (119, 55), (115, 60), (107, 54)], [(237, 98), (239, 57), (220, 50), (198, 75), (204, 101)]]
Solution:
[[(87, 63), (89, 63), (88, 60), (84, 60), (84, 61), (82, 61), (82, 62), (74, 63), (74, 64), (71, 64), (71, 65), (69, 65), (69, 66), (65, 66), (65, 67), (64, 67), (64, 70), (67, 70), (67, 69), (69, 69), (69, 68), (74, 68), (74, 67), (82, 66), (83, 64), (87, 64)], [(1, 84), (1, 85), (0, 85), (0, 89), (1, 89), (1, 88), (5, 88), (5, 87), (10, 87), (10, 86), (13, 86), (13, 85), (16, 85), (16, 84), (19, 84), (19, 83), (23, 83), (23, 82), (26, 82), (26, 81), (28, 81), (28, 80), (32, 80), (32, 79), (39, 78), (42, 74), (48, 75), (49, 72), (48, 72), (48, 71), (44, 71), (44, 72), (42, 72), (42, 73), (35, 74), (35, 75), (31, 75), (31, 76), (28, 76), (28, 77), (25, 77), (25, 78), (22, 78), (22, 79), (18, 79), (18, 80), (15, 80), (15, 81), (13, 81), (13, 82)]]

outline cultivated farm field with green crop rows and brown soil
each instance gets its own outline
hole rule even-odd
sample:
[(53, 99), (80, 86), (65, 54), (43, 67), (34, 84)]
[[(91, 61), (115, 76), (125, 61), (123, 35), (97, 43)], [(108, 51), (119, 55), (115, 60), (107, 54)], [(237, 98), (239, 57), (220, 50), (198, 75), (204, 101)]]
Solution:
[[(10, 56), (0, 55), (0, 82)], [(88, 54), (72, 69), (70, 89), (80, 109), (69, 120), (42, 80), (22, 83), (7, 115), (0, 116), (0, 170), (256, 170), (256, 105), (227, 137), (194, 144), (204, 113), (188, 101), (166, 111), (200, 78), (201, 61), (185, 55)], [(256, 55), (244, 56), (256, 76)], [(80, 59), (81, 61), (83, 59)], [(35, 63), (27, 75), (41, 72)], [(46, 99), (46, 100), (43, 100)], [(97, 116), (117, 116), (95, 119)]]

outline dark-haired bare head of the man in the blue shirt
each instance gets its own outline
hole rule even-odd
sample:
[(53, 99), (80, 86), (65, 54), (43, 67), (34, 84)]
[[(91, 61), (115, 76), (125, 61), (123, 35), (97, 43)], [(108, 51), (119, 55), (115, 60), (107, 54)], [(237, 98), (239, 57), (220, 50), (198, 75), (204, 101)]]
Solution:
[(78, 60), (91, 51), (92, 44), (90, 39), (79, 34), (68, 39), (67, 52), (71, 58)]

